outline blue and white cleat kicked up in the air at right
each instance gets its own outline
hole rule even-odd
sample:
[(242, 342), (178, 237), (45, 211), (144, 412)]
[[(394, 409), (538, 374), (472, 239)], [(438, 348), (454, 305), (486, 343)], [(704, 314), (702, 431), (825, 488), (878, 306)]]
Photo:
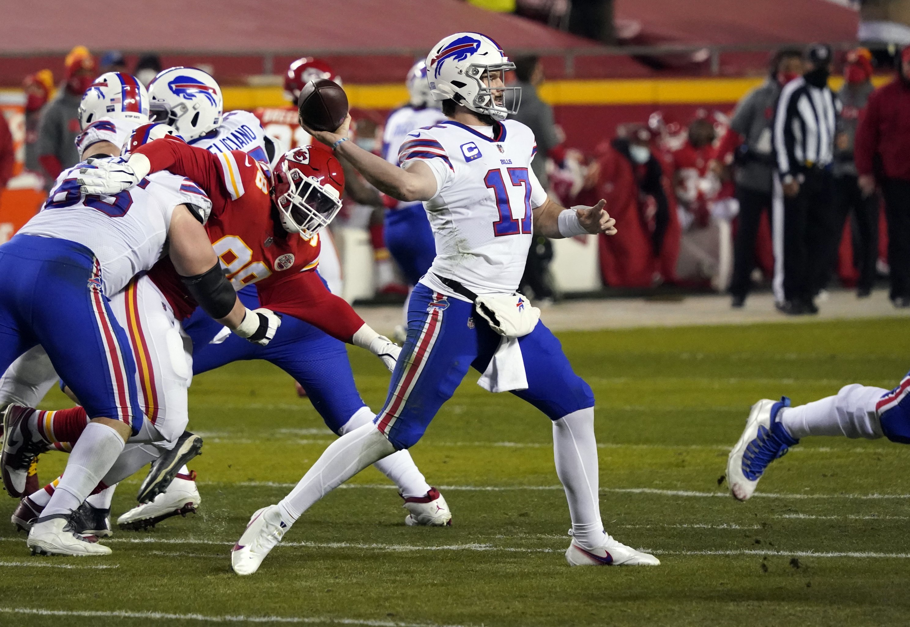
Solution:
[(743, 435), (727, 457), (727, 483), (733, 499), (749, 499), (768, 464), (799, 444), (777, 419), (781, 409), (788, 406), (790, 399), (786, 396), (779, 401), (763, 398), (752, 406)]

